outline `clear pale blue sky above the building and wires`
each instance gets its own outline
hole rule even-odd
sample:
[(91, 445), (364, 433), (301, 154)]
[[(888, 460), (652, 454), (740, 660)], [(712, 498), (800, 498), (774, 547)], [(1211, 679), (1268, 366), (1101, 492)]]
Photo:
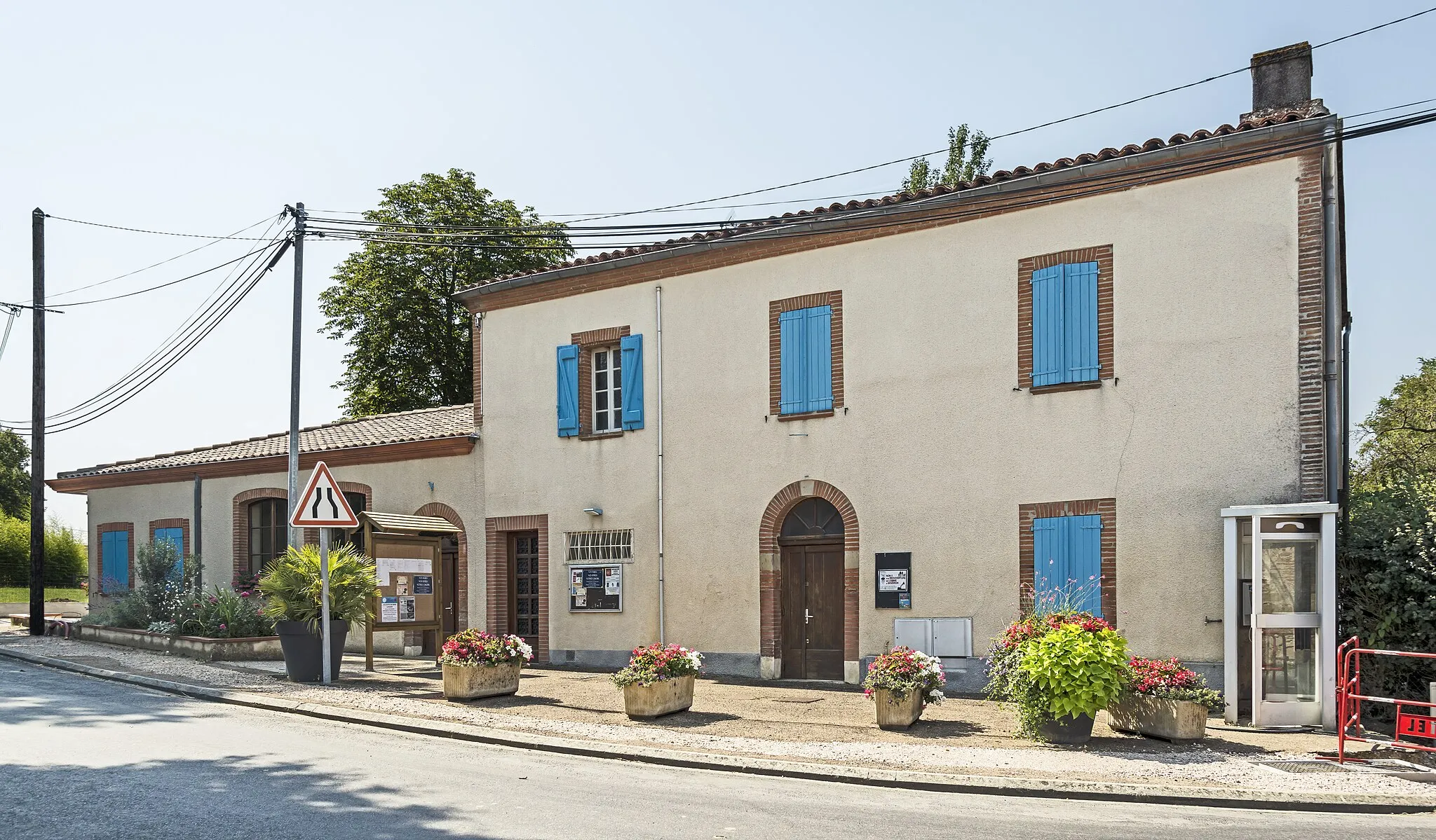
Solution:
[[(956, 122), (988, 134), (1022, 128), (1423, 7), (11, 3), (0, 10), (0, 300), (30, 296), (33, 207), (217, 234), (292, 201), (362, 210), (381, 187), (451, 167), (544, 214), (653, 207), (936, 149)], [(1341, 113), (1433, 98), (1433, 40), (1436, 13), (1320, 49), (1315, 95)], [(992, 157), (1010, 168), (1215, 128), (1249, 101), (1242, 73), (1001, 141)], [(1417, 356), (1436, 356), (1436, 284), (1419, 250), (1436, 217), (1433, 141), (1436, 126), (1423, 126), (1347, 146), (1358, 416)], [(902, 174), (893, 167), (764, 198), (811, 207), (890, 191)], [(197, 244), (53, 221), (50, 289)], [(172, 280), (244, 248), (220, 243), (102, 291)], [(343, 250), (307, 250), (306, 425), (339, 415), (330, 385), (343, 346), (317, 333), (314, 297)], [(52, 316), (52, 409), (113, 382), (215, 283), (207, 276)], [(286, 260), (145, 393), (52, 437), (46, 472), (281, 431), (289, 294)], [(26, 319), (0, 359), (3, 419), (29, 418), (29, 346)], [(83, 526), (82, 497), (52, 494), (50, 507)]]

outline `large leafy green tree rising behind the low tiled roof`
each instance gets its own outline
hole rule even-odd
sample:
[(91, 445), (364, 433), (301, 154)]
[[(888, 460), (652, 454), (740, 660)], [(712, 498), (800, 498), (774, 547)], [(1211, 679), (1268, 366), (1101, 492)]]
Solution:
[(333, 286), (319, 300), (323, 332), (349, 345), (345, 375), (335, 383), (348, 392), (345, 414), (470, 402), (472, 325), (454, 293), (560, 261), (573, 253), (569, 237), (561, 224), (541, 221), (531, 207), (495, 200), (464, 169), (429, 172), (381, 195), (379, 208), (363, 214), (379, 231), (505, 230), (471, 231), (468, 241), (480, 243), (471, 247), (366, 241), (339, 264)]

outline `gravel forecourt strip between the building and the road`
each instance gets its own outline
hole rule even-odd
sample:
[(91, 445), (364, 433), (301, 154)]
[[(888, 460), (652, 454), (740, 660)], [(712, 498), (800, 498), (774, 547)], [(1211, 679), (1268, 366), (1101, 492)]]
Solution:
[(1173, 745), (1113, 732), (1103, 724), (1104, 715), (1099, 715), (1087, 747), (1044, 747), (1014, 738), (1012, 717), (997, 704), (971, 699), (929, 706), (912, 729), (885, 732), (873, 722), (870, 702), (857, 691), (729, 679), (701, 681), (689, 712), (638, 722), (623, 715), (622, 698), (603, 673), (527, 669), (518, 695), (464, 705), (442, 699), (432, 661), (389, 659), (379, 665), (388, 673), (373, 675), (362, 669), (362, 658), (349, 656), (342, 681), (326, 688), (286, 682), (280, 662), (211, 665), (22, 633), (0, 630), (0, 645), (178, 682), (615, 744), (1025, 778), (1269, 791), (1436, 793), (1433, 785), (1399, 778), (1364, 773), (1295, 774), (1251, 761), (1334, 750), (1335, 738), (1318, 734), (1272, 735), (1213, 727), (1202, 744)]

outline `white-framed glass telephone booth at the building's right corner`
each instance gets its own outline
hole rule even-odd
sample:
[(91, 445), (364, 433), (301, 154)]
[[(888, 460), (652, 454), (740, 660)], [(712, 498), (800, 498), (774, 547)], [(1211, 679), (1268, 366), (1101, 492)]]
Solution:
[(1337, 505), (1222, 510), (1226, 722), (1335, 729)]

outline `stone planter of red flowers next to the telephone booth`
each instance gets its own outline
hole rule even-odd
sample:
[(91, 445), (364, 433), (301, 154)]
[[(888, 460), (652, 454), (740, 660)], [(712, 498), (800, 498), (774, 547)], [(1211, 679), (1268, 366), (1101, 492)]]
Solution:
[(1206, 737), (1206, 715), (1223, 705), (1222, 692), (1208, 688), (1206, 678), (1172, 659), (1133, 656), (1127, 663), (1127, 691), (1107, 706), (1111, 727), (1155, 735), (1167, 741)]

